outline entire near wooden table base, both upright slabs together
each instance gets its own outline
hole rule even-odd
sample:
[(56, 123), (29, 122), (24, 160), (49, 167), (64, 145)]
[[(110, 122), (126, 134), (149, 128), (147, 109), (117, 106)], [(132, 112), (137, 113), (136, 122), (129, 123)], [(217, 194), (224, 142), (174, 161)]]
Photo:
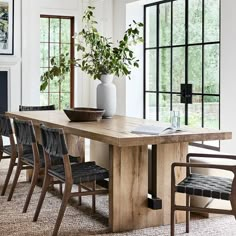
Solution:
[[(188, 143), (160, 144), (153, 168), (154, 195), (162, 199), (162, 209), (148, 208), (147, 146), (110, 146), (109, 226), (113, 232), (140, 229), (170, 223), (171, 164), (185, 161)], [(177, 181), (185, 175), (178, 170)], [(185, 202), (184, 196), (177, 196)], [(185, 221), (185, 214), (177, 212), (177, 222)]]

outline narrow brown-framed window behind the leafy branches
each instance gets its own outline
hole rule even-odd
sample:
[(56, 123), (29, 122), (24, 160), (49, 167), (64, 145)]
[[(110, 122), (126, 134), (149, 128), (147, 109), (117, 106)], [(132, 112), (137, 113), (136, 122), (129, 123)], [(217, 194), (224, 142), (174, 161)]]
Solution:
[[(74, 58), (74, 17), (40, 17), (40, 70), (41, 74), (51, 67), (50, 58), (69, 53)], [(40, 105), (55, 104), (57, 109), (74, 105), (74, 67), (62, 82), (50, 80), (45, 91), (40, 94)]]

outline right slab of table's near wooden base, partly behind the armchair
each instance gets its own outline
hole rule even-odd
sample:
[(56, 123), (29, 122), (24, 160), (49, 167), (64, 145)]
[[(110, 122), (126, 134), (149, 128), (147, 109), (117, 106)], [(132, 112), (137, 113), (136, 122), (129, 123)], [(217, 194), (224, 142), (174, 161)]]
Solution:
[[(171, 200), (171, 164), (173, 162), (185, 162), (188, 153), (188, 143), (159, 144), (156, 146), (156, 156), (153, 158), (155, 165), (152, 169), (153, 194), (162, 199), (162, 209), (158, 211), (157, 225), (170, 224), (170, 200)], [(154, 148), (155, 152), (155, 148)], [(186, 175), (186, 169), (176, 169), (176, 181), (181, 181)], [(185, 204), (185, 196), (176, 195), (176, 202)], [(185, 222), (185, 212), (176, 211), (176, 222)]]

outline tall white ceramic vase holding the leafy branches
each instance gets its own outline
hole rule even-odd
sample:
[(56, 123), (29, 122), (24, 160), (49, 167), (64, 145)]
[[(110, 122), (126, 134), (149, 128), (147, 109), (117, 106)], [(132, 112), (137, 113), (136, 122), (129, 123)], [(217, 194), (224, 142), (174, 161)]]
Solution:
[(105, 109), (104, 118), (111, 118), (116, 112), (116, 86), (113, 75), (102, 75), (97, 86), (97, 108)]

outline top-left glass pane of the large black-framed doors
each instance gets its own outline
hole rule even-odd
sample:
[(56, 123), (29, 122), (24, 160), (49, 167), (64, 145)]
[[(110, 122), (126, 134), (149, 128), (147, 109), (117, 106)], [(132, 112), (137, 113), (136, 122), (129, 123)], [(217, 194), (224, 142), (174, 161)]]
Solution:
[(157, 7), (146, 8), (146, 47), (156, 47), (157, 44)]

